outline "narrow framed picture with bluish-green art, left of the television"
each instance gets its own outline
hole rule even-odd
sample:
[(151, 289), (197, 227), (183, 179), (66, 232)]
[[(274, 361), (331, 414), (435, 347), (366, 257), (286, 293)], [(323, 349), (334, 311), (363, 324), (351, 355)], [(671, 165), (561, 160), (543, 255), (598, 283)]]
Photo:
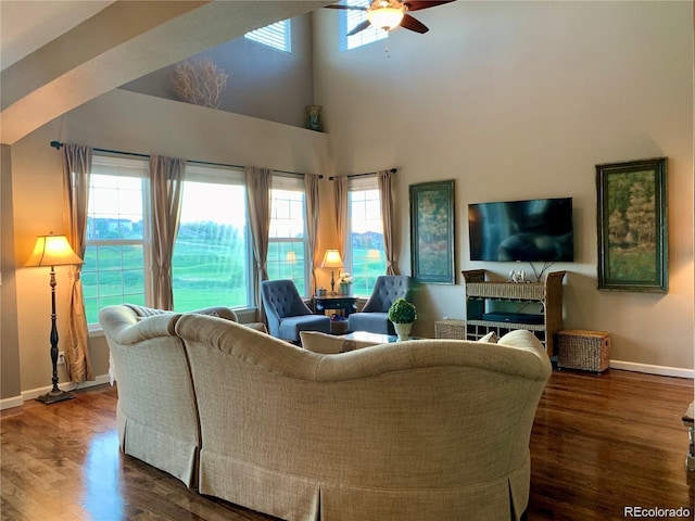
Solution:
[(413, 278), (455, 283), (454, 180), (410, 185), (409, 202)]

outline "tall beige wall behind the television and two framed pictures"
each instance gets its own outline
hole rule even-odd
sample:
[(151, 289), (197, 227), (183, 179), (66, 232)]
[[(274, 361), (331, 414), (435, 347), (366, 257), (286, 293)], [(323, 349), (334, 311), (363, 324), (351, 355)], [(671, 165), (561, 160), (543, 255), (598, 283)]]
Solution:
[[(571, 196), (576, 262), (566, 328), (609, 331), (627, 367), (693, 368), (692, 2), (469, 2), (413, 13), (404, 29), (338, 51), (336, 12), (315, 13), (316, 102), (340, 174), (397, 167), (402, 272), (408, 185), (456, 181), (457, 270), (469, 260), (468, 203)], [(595, 165), (669, 158), (670, 290), (596, 289)], [(529, 267), (522, 266), (527, 271)], [(426, 285), (417, 332), (464, 317), (464, 289)]]

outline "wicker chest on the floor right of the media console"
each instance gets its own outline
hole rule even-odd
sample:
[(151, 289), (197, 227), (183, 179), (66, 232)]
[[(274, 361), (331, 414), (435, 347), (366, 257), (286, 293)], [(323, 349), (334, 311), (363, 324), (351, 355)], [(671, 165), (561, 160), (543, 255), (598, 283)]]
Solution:
[(610, 335), (605, 331), (557, 332), (557, 367), (603, 372), (610, 364)]

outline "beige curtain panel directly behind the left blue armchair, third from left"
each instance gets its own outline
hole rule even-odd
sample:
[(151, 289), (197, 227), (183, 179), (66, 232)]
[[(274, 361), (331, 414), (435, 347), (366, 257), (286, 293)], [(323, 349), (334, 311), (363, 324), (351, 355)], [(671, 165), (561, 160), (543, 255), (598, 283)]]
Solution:
[(270, 188), (273, 171), (268, 168), (248, 166), (244, 168), (247, 179), (247, 201), (249, 220), (253, 239), (253, 291), (258, 308), (258, 320), (265, 322), (265, 310), (261, 297), (261, 281), (268, 279), (268, 236), (270, 233)]

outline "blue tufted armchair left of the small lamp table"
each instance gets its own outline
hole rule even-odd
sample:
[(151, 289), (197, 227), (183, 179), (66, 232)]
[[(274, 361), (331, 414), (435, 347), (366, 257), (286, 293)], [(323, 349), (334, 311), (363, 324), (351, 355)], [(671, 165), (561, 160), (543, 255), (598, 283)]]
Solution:
[(264, 280), (261, 295), (273, 336), (300, 342), (300, 331), (330, 333), (330, 317), (314, 315), (291, 280)]

